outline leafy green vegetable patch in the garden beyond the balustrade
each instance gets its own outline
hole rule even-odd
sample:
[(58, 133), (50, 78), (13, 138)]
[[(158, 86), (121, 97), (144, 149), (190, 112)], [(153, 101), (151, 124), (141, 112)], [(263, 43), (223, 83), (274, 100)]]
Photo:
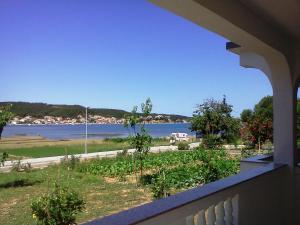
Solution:
[[(161, 168), (165, 168), (165, 179), (170, 187), (190, 188), (237, 173), (239, 162), (224, 150), (198, 148), (185, 152), (149, 154), (144, 160), (146, 174), (141, 177), (141, 183), (153, 184), (159, 177)], [(81, 163), (78, 170), (108, 177), (120, 177), (135, 172), (132, 156), (92, 160)]]

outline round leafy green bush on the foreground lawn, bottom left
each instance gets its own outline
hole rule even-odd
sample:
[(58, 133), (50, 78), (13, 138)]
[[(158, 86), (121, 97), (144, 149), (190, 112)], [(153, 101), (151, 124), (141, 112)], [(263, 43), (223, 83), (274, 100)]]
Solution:
[(76, 192), (55, 183), (50, 194), (31, 203), (32, 217), (39, 225), (72, 225), (76, 224), (75, 216), (84, 206), (85, 202)]

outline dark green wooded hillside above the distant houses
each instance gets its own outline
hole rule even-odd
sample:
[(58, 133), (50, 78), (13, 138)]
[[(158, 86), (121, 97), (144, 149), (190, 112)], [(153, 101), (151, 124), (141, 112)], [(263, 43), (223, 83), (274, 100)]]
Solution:
[[(29, 103), (29, 102), (0, 102), (0, 106), (11, 104), (12, 112), (15, 116), (25, 117), (33, 116), (42, 118), (44, 116), (61, 116), (75, 118), (78, 115), (85, 115), (85, 107), (81, 105), (51, 105), (46, 103)], [(104, 117), (116, 117), (120, 119), (129, 112), (120, 109), (103, 109), (103, 108), (89, 108), (89, 114), (100, 115)], [(170, 116), (173, 121), (188, 119), (186, 116), (170, 115), (170, 114), (152, 114)]]

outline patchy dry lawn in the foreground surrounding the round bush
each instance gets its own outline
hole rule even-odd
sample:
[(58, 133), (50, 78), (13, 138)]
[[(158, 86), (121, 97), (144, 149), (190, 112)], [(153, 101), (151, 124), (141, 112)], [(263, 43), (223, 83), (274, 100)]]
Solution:
[(35, 224), (30, 203), (49, 191), (57, 179), (85, 199), (86, 210), (79, 214), (79, 223), (151, 201), (149, 190), (138, 188), (133, 182), (68, 171), (59, 166), (29, 173), (3, 173), (0, 174), (1, 224)]

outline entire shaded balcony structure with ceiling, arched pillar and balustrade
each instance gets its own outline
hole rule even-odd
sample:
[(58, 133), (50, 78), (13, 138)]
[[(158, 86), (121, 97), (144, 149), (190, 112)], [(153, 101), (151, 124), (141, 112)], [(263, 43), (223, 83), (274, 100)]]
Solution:
[[(86, 225), (300, 224), (296, 99), (300, 84), (297, 1), (149, 0), (215, 32), (240, 65), (261, 70), (273, 89), (273, 161), (242, 162), (241, 172)], [(255, 91), (255, 90), (253, 90)], [(247, 94), (247, 93), (243, 93)], [(120, 200), (121, 201), (121, 200)]]

